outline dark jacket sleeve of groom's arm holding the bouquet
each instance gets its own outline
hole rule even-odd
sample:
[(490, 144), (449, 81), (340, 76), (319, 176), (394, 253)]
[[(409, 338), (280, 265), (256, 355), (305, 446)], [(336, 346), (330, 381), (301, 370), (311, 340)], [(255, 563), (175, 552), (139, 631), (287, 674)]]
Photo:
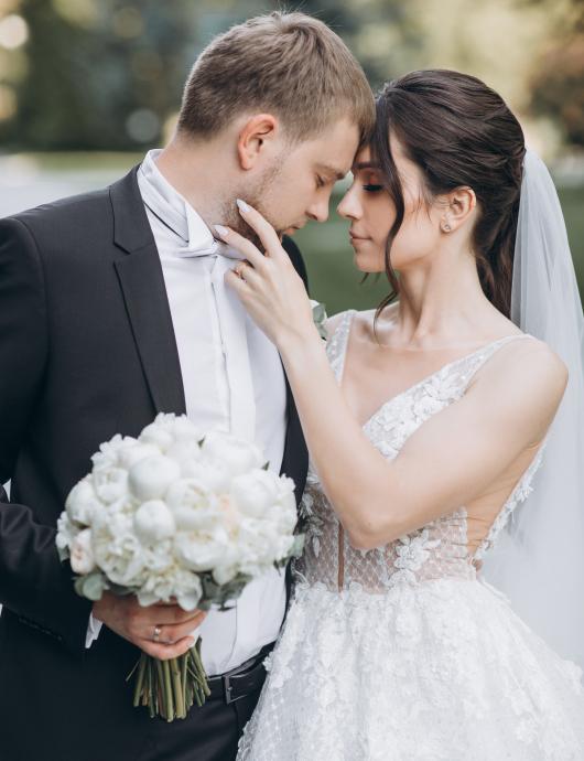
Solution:
[(42, 262), (29, 228), (0, 219), (0, 602), (21, 622), (83, 650), (90, 602), (78, 597), (61, 564), (55, 526), (34, 506), (10, 503), (12, 478), (39, 399), (48, 356)]

